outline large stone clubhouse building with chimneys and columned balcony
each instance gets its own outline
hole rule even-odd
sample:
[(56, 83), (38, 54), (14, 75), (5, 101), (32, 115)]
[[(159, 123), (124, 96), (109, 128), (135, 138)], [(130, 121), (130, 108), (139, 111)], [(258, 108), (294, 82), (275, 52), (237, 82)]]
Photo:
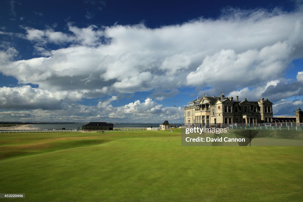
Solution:
[(190, 101), (184, 108), (186, 126), (204, 126), (215, 124), (257, 124), (272, 122), (272, 103), (266, 98), (258, 101), (242, 101), (231, 97), (203, 96)]

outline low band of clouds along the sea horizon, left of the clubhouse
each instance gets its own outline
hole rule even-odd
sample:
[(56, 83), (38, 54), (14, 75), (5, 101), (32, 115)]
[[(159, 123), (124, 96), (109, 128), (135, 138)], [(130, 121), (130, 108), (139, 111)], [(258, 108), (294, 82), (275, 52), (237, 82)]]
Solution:
[[(0, 112), (3, 121), (12, 121), (18, 118), (22, 121), (100, 121), (107, 122), (154, 122), (155, 120), (180, 120), (183, 118), (181, 107), (163, 107), (151, 98), (144, 102), (136, 100), (126, 105), (114, 108), (110, 103), (116, 100), (113, 96), (96, 106), (82, 104), (62, 104), (62, 109), (34, 109), (31, 111)], [(161, 122), (161, 121), (160, 121)]]

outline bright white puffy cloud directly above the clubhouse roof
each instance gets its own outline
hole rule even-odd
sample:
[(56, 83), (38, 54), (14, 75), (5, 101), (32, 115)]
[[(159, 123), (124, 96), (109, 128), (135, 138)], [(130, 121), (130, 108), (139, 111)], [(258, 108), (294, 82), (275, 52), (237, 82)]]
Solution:
[(197, 70), (187, 75), (187, 84), (215, 86), (228, 82), (233, 86), (249, 86), (275, 79), (291, 62), (293, 49), (285, 41), (265, 46), (260, 51), (248, 50), (237, 54), (234, 50), (221, 50), (206, 56)]

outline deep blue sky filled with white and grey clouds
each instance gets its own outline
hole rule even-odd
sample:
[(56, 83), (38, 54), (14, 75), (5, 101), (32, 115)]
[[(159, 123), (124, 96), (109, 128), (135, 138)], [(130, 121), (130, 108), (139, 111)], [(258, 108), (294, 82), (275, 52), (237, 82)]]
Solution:
[(0, 121), (182, 123), (204, 93), (303, 105), (302, 1), (0, 2)]

